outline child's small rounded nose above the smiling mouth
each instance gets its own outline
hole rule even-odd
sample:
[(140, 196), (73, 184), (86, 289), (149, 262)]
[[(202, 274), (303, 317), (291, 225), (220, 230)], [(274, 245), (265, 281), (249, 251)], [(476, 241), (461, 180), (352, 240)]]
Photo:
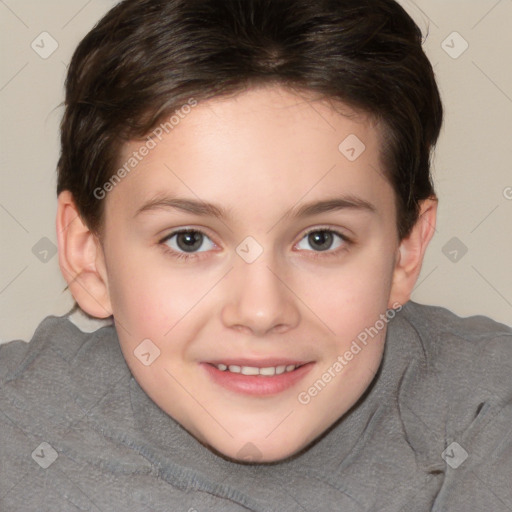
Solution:
[(237, 261), (226, 283), (229, 292), (221, 313), (223, 324), (254, 336), (295, 328), (300, 311), (286, 281), (268, 259)]

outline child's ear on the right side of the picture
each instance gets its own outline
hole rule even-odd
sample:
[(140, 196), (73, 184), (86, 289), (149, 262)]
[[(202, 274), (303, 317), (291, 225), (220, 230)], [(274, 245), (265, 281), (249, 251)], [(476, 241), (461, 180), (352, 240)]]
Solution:
[(405, 304), (411, 297), (427, 246), (434, 236), (437, 217), (437, 198), (425, 199), (420, 203), (420, 215), (407, 238), (397, 249), (393, 282), (388, 307)]

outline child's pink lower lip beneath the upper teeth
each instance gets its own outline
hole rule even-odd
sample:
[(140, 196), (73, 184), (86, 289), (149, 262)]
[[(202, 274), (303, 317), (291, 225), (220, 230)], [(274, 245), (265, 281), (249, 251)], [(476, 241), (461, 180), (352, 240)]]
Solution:
[(208, 363), (201, 363), (210, 378), (220, 386), (246, 395), (276, 395), (293, 387), (306, 374), (309, 373), (314, 363), (307, 363), (292, 372), (285, 372), (281, 375), (243, 375), (232, 373), (228, 370), (221, 371), (216, 366)]

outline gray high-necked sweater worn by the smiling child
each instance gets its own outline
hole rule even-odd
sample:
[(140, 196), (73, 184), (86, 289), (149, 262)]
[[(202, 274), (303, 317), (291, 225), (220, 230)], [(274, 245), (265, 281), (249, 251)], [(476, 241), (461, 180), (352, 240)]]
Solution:
[(113, 326), (0, 346), (0, 510), (512, 511), (512, 329), (409, 302), (372, 384), (306, 450), (212, 453), (132, 377)]

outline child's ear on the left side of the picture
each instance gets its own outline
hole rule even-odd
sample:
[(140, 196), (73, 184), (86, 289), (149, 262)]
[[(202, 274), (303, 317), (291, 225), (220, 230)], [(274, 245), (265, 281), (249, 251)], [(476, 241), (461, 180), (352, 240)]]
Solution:
[(59, 194), (56, 227), (60, 270), (76, 302), (93, 317), (111, 316), (103, 249), (68, 190)]

